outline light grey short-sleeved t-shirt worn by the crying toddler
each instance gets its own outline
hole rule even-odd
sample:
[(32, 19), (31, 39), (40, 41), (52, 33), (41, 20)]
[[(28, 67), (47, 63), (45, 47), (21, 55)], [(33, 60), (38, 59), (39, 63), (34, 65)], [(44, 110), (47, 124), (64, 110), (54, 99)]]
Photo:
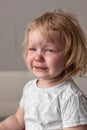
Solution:
[(26, 130), (63, 130), (87, 124), (87, 98), (72, 79), (50, 88), (39, 88), (37, 79), (23, 90)]

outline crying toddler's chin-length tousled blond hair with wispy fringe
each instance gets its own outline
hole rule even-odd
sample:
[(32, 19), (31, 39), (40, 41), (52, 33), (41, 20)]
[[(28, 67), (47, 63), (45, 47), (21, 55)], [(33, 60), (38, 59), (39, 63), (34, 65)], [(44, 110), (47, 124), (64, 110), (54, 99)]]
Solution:
[(24, 39), (24, 58), (27, 57), (28, 36), (31, 30), (38, 29), (45, 38), (49, 36), (49, 31), (60, 31), (61, 37), (65, 42), (65, 69), (61, 73), (62, 78), (66, 79), (79, 73), (84, 76), (87, 70), (87, 48), (84, 32), (79, 21), (71, 11), (54, 10), (46, 12), (34, 19), (27, 27)]

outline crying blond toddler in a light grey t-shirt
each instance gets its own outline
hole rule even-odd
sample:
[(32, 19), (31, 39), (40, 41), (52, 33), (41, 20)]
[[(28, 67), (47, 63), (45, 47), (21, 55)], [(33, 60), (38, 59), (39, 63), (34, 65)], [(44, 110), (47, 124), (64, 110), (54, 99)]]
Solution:
[(23, 45), (36, 79), (0, 130), (87, 130), (87, 98), (72, 79), (87, 72), (87, 41), (77, 18), (63, 9), (46, 12), (29, 23)]

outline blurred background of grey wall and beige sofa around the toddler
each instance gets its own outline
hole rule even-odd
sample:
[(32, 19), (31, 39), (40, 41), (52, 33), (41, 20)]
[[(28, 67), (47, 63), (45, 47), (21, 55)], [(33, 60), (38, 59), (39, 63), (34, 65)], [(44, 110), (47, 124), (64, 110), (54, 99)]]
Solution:
[[(87, 0), (0, 0), (0, 117), (16, 112), (24, 85), (34, 78), (22, 57), (27, 24), (57, 8), (72, 9), (87, 33)], [(87, 77), (75, 81), (87, 95)]]

